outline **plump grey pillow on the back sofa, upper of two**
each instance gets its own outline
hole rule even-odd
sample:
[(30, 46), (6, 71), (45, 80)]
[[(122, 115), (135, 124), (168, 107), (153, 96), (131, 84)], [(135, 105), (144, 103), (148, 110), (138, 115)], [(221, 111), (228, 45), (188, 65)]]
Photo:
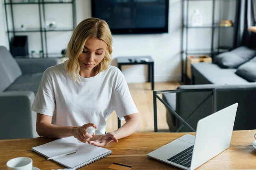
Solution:
[(240, 65), (256, 56), (256, 50), (245, 46), (216, 56), (216, 62), (223, 68), (238, 68)]

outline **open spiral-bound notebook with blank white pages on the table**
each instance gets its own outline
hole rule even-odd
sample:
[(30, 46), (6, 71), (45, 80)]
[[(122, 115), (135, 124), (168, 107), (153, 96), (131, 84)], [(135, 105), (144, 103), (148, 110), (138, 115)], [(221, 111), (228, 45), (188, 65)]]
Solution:
[(53, 161), (65, 167), (78, 169), (94, 161), (111, 155), (112, 151), (103, 147), (97, 147), (88, 143), (79, 143), (73, 136), (57, 139), (55, 141), (32, 147), (32, 150), (49, 158), (52, 156), (78, 150), (71, 155), (61, 156)]

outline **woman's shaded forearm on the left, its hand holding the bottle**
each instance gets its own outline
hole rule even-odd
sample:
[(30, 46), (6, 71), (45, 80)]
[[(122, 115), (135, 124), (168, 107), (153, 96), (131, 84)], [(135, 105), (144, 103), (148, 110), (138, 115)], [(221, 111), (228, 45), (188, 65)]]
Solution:
[(65, 138), (73, 136), (72, 133), (75, 128), (76, 127), (73, 126), (57, 126), (48, 122), (41, 122), (36, 126), (36, 131), (39, 136), (49, 138)]

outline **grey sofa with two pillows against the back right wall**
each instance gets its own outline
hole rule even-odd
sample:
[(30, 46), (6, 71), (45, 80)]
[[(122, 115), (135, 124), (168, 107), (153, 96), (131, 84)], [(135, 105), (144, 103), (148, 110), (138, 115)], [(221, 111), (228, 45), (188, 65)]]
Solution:
[(241, 46), (217, 55), (213, 63), (192, 64), (192, 84), (256, 82), (256, 50)]

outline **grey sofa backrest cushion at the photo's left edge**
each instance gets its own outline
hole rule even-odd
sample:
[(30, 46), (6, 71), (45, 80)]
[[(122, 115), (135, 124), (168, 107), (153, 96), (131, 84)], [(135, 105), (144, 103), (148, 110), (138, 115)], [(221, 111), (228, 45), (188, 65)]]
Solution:
[(0, 91), (4, 91), (21, 75), (21, 70), (12, 54), (0, 46)]

